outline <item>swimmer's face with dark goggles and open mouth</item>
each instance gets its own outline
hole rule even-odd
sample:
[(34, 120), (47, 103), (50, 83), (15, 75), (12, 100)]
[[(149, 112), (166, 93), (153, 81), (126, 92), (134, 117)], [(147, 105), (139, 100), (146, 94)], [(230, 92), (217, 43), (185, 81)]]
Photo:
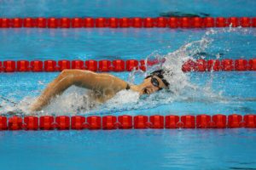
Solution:
[(143, 88), (140, 94), (154, 94), (155, 92), (161, 90), (162, 88), (166, 88), (166, 85), (160, 77), (148, 77), (143, 81)]

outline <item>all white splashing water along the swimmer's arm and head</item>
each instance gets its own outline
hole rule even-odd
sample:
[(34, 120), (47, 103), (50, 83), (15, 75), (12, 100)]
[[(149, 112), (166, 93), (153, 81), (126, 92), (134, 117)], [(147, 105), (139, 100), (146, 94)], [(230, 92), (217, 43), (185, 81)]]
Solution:
[[(210, 74), (210, 79), (201, 87), (200, 85), (190, 81), (190, 75), (193, 73), (184, 73), (182, 71), (183, 63), (192, 59), (195, 60), (196, 54), (204, 54), (207, 48), (216, 41), (214, 35), (219, 35), (227, 32), (236, 32), (238, 34), (246, 34), (247, 29), (241, 28), (225, 28), (225, 29), (209, 29), (206, 31), (200, 40), (188, 42), (182, 47), (178, 48), (172, 53), (165, 55), (158, 54), (157, 51), (148, 55), (148, 59), (165, 60), (164, 63), (148, 67), (146, 72), (131, 71), (128, 82), (135, 82), (135, 77), (145, 77), (150, 71), (163, 68), (166, 70), (166, 80), (170, 82), (170, 90), (163, 90), (159, 93), (151, 94), (149, 96), (142, 96), (135, 92), (120, 91), (113, 99), (108, 100), (104, 105), (96, 105), (89, 96), (86, 95), (86, 90), (83, 88), (69, 88), (67, 92), (53, 99), (51, 105), (44, 108), (44, 111), (38, 112), (40, 115), (75, 115), (75, 114), (95, 114), (95, 113), (112, 113), (118, 111), (136, 111), (143, 109), (150, 109), (159, 105), (168, 105), (174, 101), (200, 101), (200, 102), (229, 102), (228, 99), (222, 96), (222, 91), (212, 90), (212, 79), (214, 74)], [(225, 48), (229, 52), (229, 48)], [(196, 55), (196, 59), (204, 56)], [(221, 58), (220, 54), (215, 55), (216, 59)], [(28, 105), (32, 103), (34, 98), (26, 97), (22, 99), (18, 105), (10, 105), (8, 102), (2, 102), (3, 111), (6, 112), (20, 112), (29, 114)]]

